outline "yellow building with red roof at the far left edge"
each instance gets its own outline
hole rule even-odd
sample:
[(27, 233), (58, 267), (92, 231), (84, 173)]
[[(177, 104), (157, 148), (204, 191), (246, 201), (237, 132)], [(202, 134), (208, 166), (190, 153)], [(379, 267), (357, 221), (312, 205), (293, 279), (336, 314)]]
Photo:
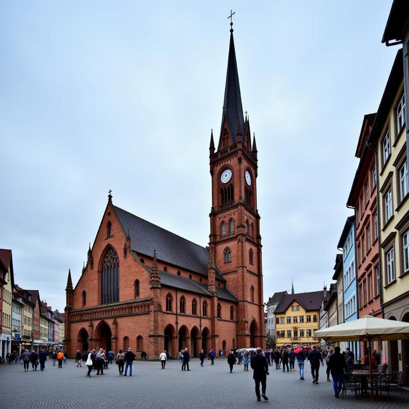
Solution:
[(2, 327), (0, 328), (0, 355), (6, 356), (11, 352), (11, 304), (13, 299), (14, 272), (11, 250), (0, 249), (0, 260), (7, 270), (3, 284)]

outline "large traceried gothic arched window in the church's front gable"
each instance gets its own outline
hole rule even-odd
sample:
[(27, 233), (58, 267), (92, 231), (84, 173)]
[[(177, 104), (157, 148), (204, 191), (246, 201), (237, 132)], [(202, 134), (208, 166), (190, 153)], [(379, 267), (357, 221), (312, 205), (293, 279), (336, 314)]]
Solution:
[(119, 301), (119, 259), (118, 253), (109, 247), (102, 262), (101, 304)]

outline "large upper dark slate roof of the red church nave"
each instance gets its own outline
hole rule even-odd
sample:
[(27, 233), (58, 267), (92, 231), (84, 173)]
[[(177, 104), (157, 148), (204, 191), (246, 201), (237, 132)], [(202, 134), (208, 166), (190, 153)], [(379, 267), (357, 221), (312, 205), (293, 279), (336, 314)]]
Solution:
[[(131, 238), (131, 250), (208, 277), (209, 251), (183, 237), (162, 229), (132, 213), (113, 206), (125, 234)], [(226, 281), (216, 269), (216, 279)]]

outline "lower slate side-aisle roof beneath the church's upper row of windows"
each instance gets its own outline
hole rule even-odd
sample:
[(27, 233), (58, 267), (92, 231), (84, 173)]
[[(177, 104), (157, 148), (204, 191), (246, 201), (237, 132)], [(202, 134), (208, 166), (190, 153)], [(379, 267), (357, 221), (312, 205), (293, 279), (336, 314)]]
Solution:
[[(149, 269), (151, 267), (147, 266)], [(208, 286), (205, 283), (200, 283), (189, 278), (180, 277), (175, 274), (171, 274), (166, 271), (159, 271), (159, 276), (161, 277), (161, 285), (178, 288), (184, 291), (190, 291), (197, 294), (202, 294), (203, 296), (212, 297), (212, 294), (207, 290)], [(237, 302), (237, 298), (232, 292), (227, 288), (216, 287), (217, 297), (221, 300)]]

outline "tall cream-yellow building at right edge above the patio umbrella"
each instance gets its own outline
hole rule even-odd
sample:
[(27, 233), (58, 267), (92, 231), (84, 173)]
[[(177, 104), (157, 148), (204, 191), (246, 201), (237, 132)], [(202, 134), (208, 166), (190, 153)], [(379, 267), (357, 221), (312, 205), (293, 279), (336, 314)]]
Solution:
[[(379, 104), (370, 133), (377, 150), (379, 180), (380, 275), (384, 318), (409, 322), (409, 176), (406, 157), (402, 49)], [(409, 342), (387, 345), (392, 371), (409, 367)]]

